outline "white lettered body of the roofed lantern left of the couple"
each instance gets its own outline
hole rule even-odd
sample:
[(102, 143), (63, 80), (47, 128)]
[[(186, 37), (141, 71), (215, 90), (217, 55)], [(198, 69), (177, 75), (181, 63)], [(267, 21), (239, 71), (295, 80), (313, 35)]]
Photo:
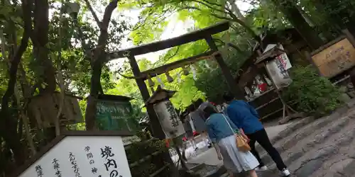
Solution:
[(184, 126), (170, 101), (161, 101), (154, 105), (163, 131), (167, 139), (178, 137), (185, 133)]

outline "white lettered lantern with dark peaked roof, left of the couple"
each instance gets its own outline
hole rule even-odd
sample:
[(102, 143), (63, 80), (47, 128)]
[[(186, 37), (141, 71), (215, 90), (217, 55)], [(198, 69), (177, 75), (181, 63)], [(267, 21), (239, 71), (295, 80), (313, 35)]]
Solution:
[(165, 90), (158, 86), (158, 89), (145, 103), (146, 105), (153, 105), (167, 139), (173, 139), (185, 133), (173, 103), (169, 100), (175, 93), (176, 91)]

